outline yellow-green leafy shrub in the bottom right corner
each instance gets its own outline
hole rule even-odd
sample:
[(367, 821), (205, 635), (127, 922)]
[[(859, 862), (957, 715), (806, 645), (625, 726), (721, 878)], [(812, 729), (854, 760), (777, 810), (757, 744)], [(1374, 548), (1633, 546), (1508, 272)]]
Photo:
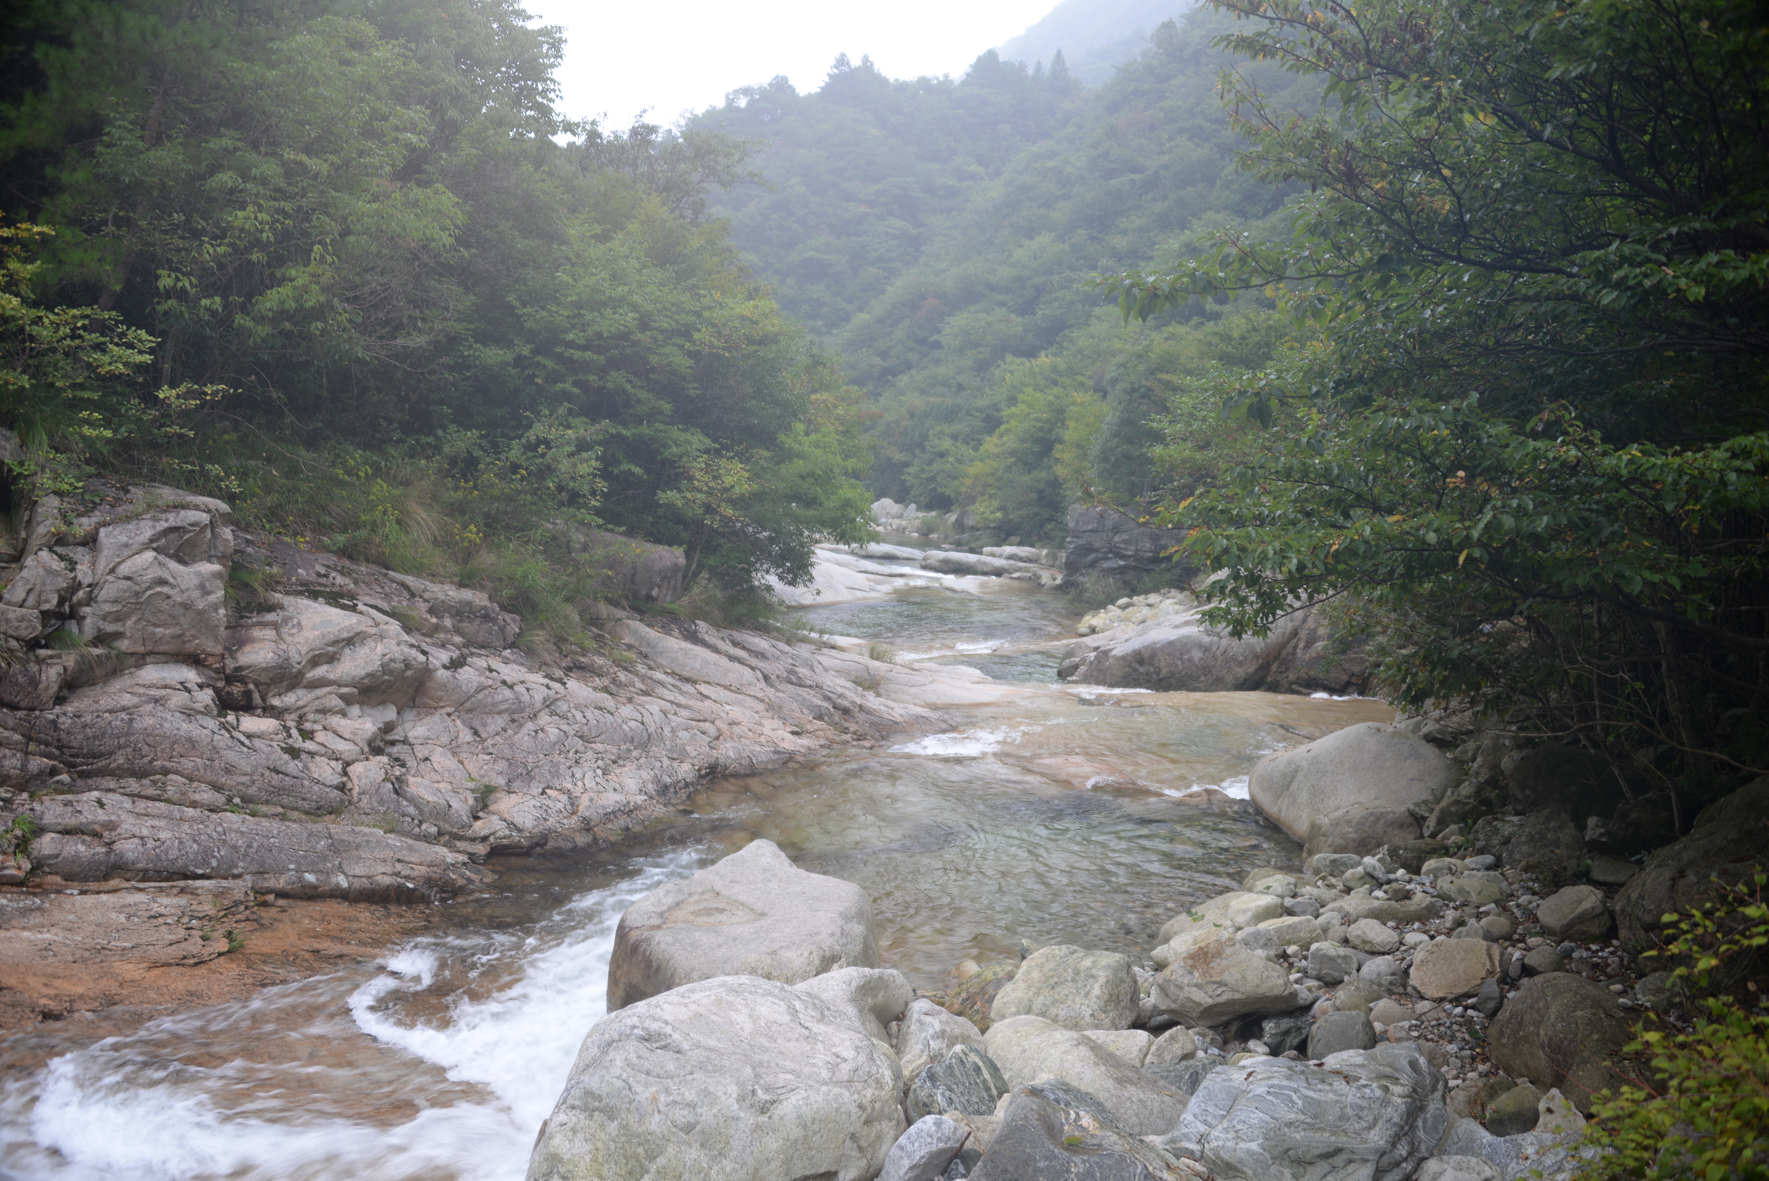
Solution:
[[(1675, 976), (1709, 988), (1741, 958), (1769, 946), (1769, 905), (1734, 886), (1714, 903), (1666, 914), (1673, 932), (1659, 951), (1679, 962)], [(1755, 981), (1751, 981), (1755, 983)], [(1739, 990), (1746, 992), (1746, 990)], [(1760, 992), (1748, 992), (1760, 1004)], [(1727, 997), (1702, 997), (1688, 1031), (1643, 1024), (1626, 1054), (1650, 1061), (1652, 1080), (1604, 1094), (1585, 1142), (1597, 1149), (1578, 1170), (1583, 1181), (1758, 1181), (1769, 1177), (1769, 1013)]]

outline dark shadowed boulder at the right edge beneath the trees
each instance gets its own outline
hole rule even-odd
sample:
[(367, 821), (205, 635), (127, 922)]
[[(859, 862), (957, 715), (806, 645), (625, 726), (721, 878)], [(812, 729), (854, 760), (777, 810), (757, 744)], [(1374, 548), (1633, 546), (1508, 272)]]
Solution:
[(1682, 840), (1647, 856), (1645, 868), (1615, 896), (1615, 925), (1633, 951), (1652, 944), (1659, 919), (1688, 911), (1714, 889), (1769, 866), (1769, 776), (1704, 808)]

